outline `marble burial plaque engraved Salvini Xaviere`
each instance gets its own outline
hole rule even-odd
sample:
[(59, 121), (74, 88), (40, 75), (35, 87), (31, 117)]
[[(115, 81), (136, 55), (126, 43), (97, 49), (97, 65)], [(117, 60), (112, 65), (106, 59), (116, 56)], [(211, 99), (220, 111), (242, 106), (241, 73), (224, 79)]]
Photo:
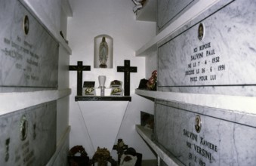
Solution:
[(184, 165), (256, 165), (256, 116), (156, 101), (154, 137)]

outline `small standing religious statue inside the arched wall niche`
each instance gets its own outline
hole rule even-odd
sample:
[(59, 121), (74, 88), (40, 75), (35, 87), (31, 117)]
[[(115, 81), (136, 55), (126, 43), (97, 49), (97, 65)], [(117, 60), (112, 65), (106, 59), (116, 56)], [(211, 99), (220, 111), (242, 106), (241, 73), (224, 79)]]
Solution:
[(102, 38), (100, 42), (100, 50), (99, 50), (99, 60), (100, 60), (100, 68), (106, 68), (106, 61), (109, 57), (109, 47), (106, 43), (105, 37)]

